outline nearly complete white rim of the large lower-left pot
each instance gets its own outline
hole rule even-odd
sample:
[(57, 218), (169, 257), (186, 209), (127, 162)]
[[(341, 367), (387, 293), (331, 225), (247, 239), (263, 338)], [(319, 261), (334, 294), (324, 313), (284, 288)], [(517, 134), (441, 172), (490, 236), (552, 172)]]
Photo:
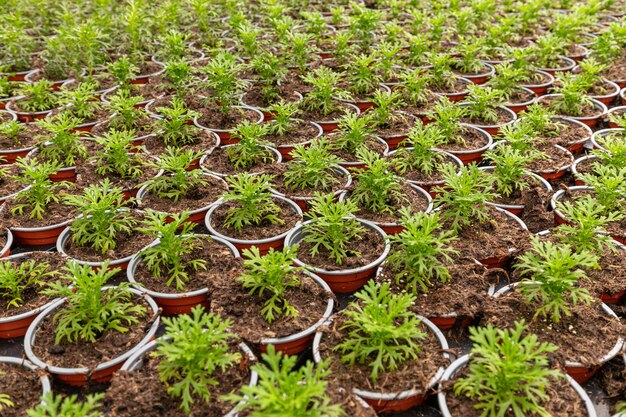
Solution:
[[(106, 286), (106, 287), (103, 287), (102, 290), (104, 291), (109, 288), (116, 288), (116, 287)], [(46, 371), (50, 373), (57, 374), (57, 375), (88, 374), (91, 371), (94, 371), (94, 372), (101, 371), (101, 370), (110, 368), (112, 366), (115, 366), (124, 362), (127, 358), (132, 356), (135, 352), (137, 352), (146, 343), (148, 343), (150, 340), (154, 338), (156, 331), (159, 327), (159, 320), (160, 320), (160, 317), (157, 315), (159, 308), (156, 302), (150, 296), (148, 296), (145, 292), (138, 291), (134, 288), (129, 288), (129, 291), (131, 291), (136, 296), (143, 297), (144, 300), (150, 306), (150, 308), (152, 308), (152, 313), (153, 315), (156, 316), (156, 318), (154, 319), (154, 322), (150, 326), (150, 329), (146, 332), (146, 335), (144, 336), (144, 338), (141, 339), (141, 341), (139, 341), (139, 343), (137, 343), (128, 352), (125, 352), (124, 354), (114, 359), (98, 364), (93, 370), (90, 370), (89, 368), (62, 368), (58, 366), (48, 365), (47, 363), (39, 359), (32, 350), (32, 345), (35, 341), (35, 336), (36, 336), (35, 333), (37, 331), (39, 323), (41, 323), (48, 315), (52, 314), (54, 310), (58, 309), (65, 303), (65, 298), (58, 298), (52, 303), (52, 305), (50, 305), (48, 308), (42, 311), (35, 318), (35, 320), (31, 323), (31, 325), (28, 327), (28, 330), (26, 331), (26, 336), (24, 337), (24, 352), (26, 353), (26, 357), (36, 366), (42, 369), (45, 369)], [(148, 310), (146, 314), (150, 314), (150, 311)]]

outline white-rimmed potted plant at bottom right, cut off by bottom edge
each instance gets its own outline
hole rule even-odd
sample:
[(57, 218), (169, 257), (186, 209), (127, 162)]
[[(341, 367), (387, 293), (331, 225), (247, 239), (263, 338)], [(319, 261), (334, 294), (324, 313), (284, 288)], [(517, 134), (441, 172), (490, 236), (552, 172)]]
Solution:
[[(442, 377), (438, 400), (445, 417), (507, 411), (556, 416), (581, 408), (588, 416), (596, 415), (580, 385), (553, 368), (550, 355), (558, 347), (529, 333), (523, 320), (507, 329), (471, 328), (470, 339), (471, 353), (452, 363)], [(556, 404), (565, 398), (564, 404)]]

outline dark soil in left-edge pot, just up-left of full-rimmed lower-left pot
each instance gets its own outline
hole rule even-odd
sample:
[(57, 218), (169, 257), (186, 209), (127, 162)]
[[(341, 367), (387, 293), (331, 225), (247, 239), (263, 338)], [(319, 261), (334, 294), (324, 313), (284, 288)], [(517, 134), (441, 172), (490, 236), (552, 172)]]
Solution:
[[(3, 260), (2, 262), (12, 262), (12, 264), (17, 268), (20, 264), (28, 262), (29, 260), (36, 261), (37, 265), (45, 262), (48, 265), (46, 268), (47, 272), (58, 272), (67, 261), (67, 258), (57, 252), (32, 252), (27, 258), (15, 259), (12, 261)], [(53, 282), (55, 280), (55, 275), (43, 278), (44, 282)], [(40, 287), (27, 287), (22, 293), (22, 302), (19, 307), (7, 307), (10, 299), (8, 297), (0, 296), (0, 306), (4, 307), (3, 309), (0, 309), (0, 317), (11, 317), (26, 313), (49, 302), (52, 298), (50, 296), (40, 294), (40, 290)]]

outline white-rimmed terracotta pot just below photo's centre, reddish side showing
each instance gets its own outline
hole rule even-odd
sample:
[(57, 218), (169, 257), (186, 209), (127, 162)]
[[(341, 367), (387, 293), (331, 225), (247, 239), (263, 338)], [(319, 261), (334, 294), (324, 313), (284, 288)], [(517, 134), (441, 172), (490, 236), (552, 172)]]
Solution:
[[(303, 225), (310, 222), (311, 220), (303, 223)], [(294, 263), (298, 266), (303, 266), (309, 271), (318, 275), (320, 278), (326, 281), (330, 289), (333, 290), (333, 292), (335, 293), (352, 293), (359, 290), (367, 283), (367, 281), (376, 276), (378, 267), (385, 260), (385, 258), (387, 258), (389, 250), (391, 249), (389, 242), (386, 241), (387, 234), (383, 232), (380, 227), (365, 220), (359, 220), (359, 222), (366, 228), (378, 233), (383, 239), (385, 239), (385, 249), (374, 262), (371, 262), (370, 264), (360, 268), (336, 271), (329, 271), (326, 269), (317, 268), (313, 265), (305, 264), (298, 258), (294, 259)], [(304, 234), (303, 225), (296, 227), (289, 233), (289, 235), (285, 239), (285, 246), (294, 246), (302, 241)]]

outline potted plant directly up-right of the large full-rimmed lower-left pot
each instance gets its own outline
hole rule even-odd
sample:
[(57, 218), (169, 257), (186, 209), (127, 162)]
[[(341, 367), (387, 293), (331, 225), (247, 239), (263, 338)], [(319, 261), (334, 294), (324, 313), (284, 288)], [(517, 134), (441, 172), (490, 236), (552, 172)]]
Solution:
[(152, 244), (130, 261), (128, 280), (144, 290), (164, 314), (185, 314), (197, 306), (209, 307), (209, 291), (216, 276), (239, 271), (239, 251), (227, 241), (193, 232), (189, 214), (172, 215), (148, 210), (141, 228)]

